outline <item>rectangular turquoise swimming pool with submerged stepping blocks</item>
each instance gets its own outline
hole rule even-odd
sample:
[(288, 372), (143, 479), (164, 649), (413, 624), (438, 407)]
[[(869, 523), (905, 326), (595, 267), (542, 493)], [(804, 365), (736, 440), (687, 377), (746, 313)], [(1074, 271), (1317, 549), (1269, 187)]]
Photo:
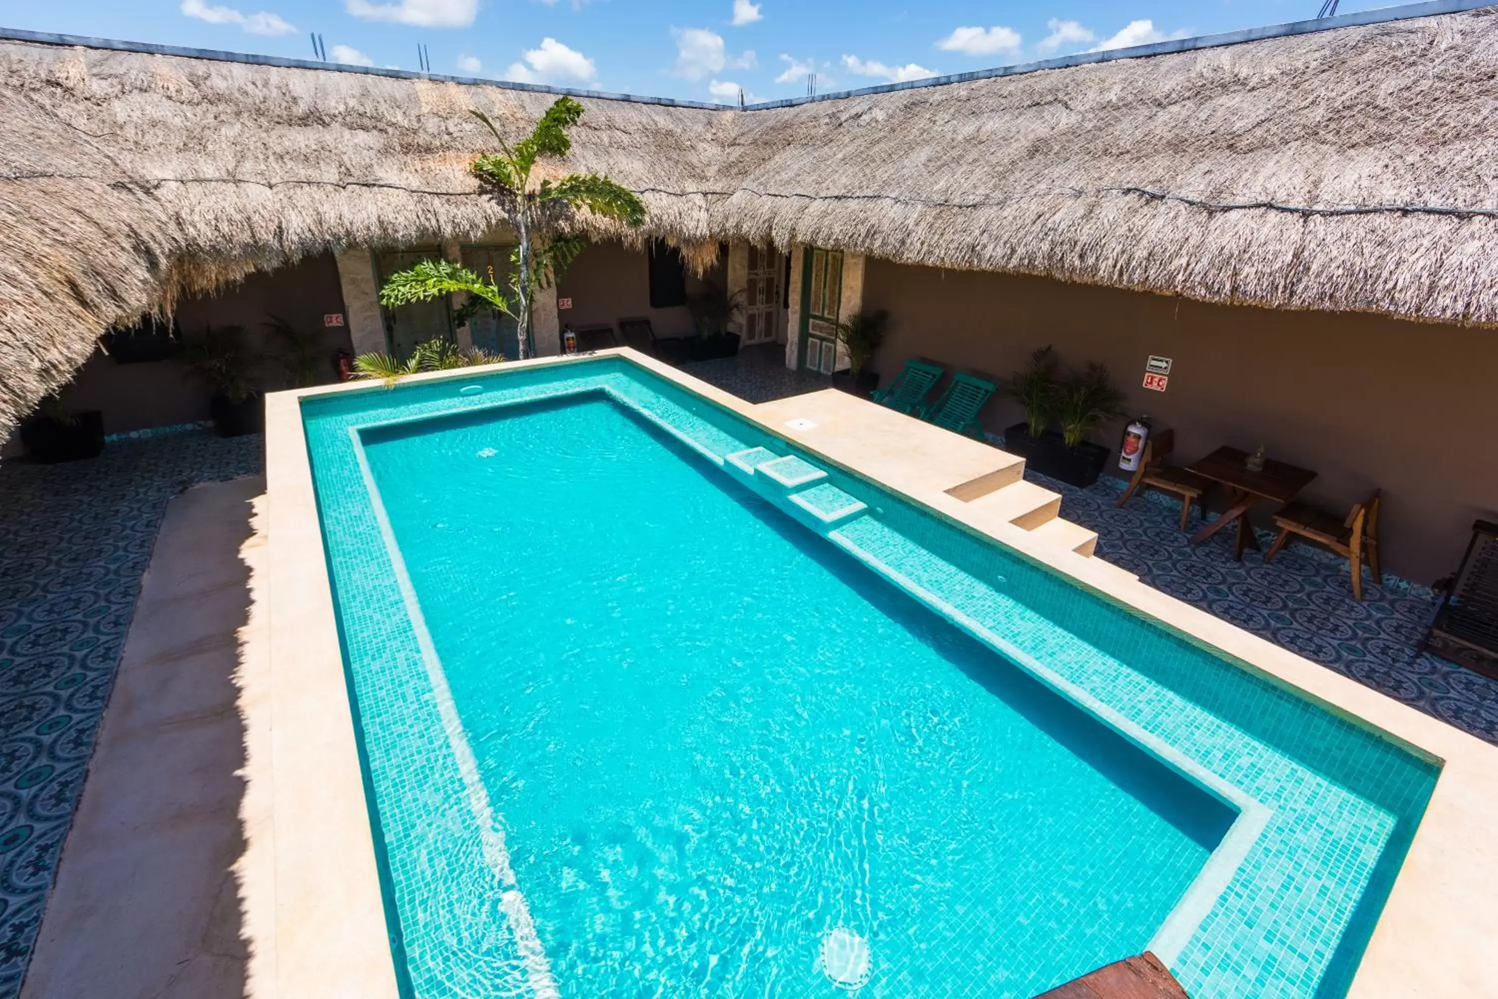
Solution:
[(1345, 992), (1431, 762), (622, 359), (303, 412), (410, 993)]

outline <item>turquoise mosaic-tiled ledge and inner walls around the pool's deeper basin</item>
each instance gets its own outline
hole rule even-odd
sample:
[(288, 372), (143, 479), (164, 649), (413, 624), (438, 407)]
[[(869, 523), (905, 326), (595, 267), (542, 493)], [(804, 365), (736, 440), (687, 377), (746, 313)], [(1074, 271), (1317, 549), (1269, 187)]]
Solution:
[[(430, 689), (410, 683), (422, 675), (419, 643), (403, 613), (370, 505), (357, 499), (361, 490), (355, 487), (363, 484), (349, 430), (602, 389), (719, 469), (731, 464), (730, 455), (764, 448), (764, 463), (791, 455), (827, 472), (816, 476), (819, 482), (803, 484), (810, 490), (830, 485), (866, 509), (854, 512), (843, 499), (828, 500), (825, 493), (812, 497), (809, 491), (800, 511), (810, 520), (803, 523), (813, 529), (821, 523), (818, 533), (903, 592), (969, 632), (1001, 637), (1020, 665), (1080, 692), (1116, 723), (1168, 746), (1264, 806), (1263, 831), (1171, 960), (1192, 996), (1345, 992), (1434, 788), (1434, 764), (625, 361), (583, 361), (461, 382), (467, 383), (484, 391), (458, 395), (460, 383), (436, 382), (304, 404), (325, 536), (363, 539), (331, 551), (334, 584), (358, 577), (374, 580), (379, 590), (360, 608), (340, 608), (340, 626), (354, 666), (383, 842), (461, 840), (472, 831), (437, 816), (416, 822), (409, 812), (386, 807), (395, 800), (430, 798), (443, 788), (460, 795), (464, 776), (445, 744), (433, 741), (443, 729)], [(800, 469), (783, 467), (791, 478)], [(388, 731), (389, 725), (398, 725), (400, 732)], [(415, 768), (412, 738), (427, 740), (422, 764)], [(409, 825), (392, 828), (391, 822)], [(455, 846), (452, 855), (463, 857), (463, 848)], [(401, 869), (413, 863), (410, 854), (392, 849), (385, 860), (394, 908), (407, 878), (433, 876), (430, 870)], [(485, 902), (472, 899), (470, 905)], [(397, 947), (406, 948), (397, 965), (431, 977), (407, 981), (416, 995), (478, 986), (487, 974), (526, 960), (523, 948), (503, 933), (470, 939), (461, 926), (449, 930), (461, 938), (460, 953), (484, 960), (458, 963), (436, 951), (410, 953), (427, 947), (427, 938), (403, 936), (392, 917)]]

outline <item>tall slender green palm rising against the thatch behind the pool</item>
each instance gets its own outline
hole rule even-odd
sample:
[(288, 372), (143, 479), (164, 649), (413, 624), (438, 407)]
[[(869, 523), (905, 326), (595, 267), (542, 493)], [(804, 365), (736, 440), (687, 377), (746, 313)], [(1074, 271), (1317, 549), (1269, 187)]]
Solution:
[(467, 292), (481, 307), (496, 309), (518, 324), (520, 359), (526, 358), (530, 341), (530, 301), (538, 288), (547, 288), (586, 246), (580, 235), (566, 235), (578, 211), (620, 222), (629, 228), (644, 223), (646, 208), (634, 192), (598, 174), (568, 174), (560, 180), (535, 180), (541, 160), (565, 159), (572, 151), (568, 129), (583, 117), (583, 105), (572, 97), (559, 97), (547, 108), (530, 135), (514, 145), (482, 111), (475, 118), (493, 133), (500, 153), (485, 153), (469, 165), (479, 178), (484, 193), (494, 201), (515, 231), (517, 244), (511, 255), (514, 274), (509, 280), (512, 298), (500, 292), (490, 270), (487, 280), (469, 268), (449, 261), (422, 261), (391, 274), (380, 289), (380, 304), (404, 306), (430, 301), (452, 292)]

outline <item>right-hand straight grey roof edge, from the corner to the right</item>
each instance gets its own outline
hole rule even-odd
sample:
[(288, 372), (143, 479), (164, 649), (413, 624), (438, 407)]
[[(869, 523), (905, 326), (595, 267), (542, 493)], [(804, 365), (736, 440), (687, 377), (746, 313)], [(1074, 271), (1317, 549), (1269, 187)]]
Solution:
[(950, 84), (965, 84), (975, 79), (995, 79), (999, 76), (1022, 76), (1046, 69), (1068, 69), (1071, 66), (1089, 66), (1092, 63), (1112, 63), (1119, 58), (1147, 58), (1150, 55), (1168, 55), (1171, 52), (1191, 52), (1204, 48), (1222, 48), (1227, 45), (1243, 45), (1245, 42), (1261, 42), (1272, 37), (1290, 37), (1294, 34), (1314, 34), (1317, 31), (1333, 31), (1336, 28), (1359, 27), (1363, 24), (1383, 24), (1387, 21), (1408, 21), (1411, 18), (1431, 18), (1441, 13), (1462, 13), (1464, 10), (1479, 10), (1482, 7), (1498, 6), (1495, 0), (1429, 0), (1426, 3), (1407, 3), (1396, 7), (1375, 7), (1357, 13), (1339, 13), (1333, 18), (1311, 18), (1308, 21), (1288, 21), (1285, 24), (1266, 24), (1257, 28), (1239, 28), (1237, 31), (1222, 31), (1219, 34), (1198, 34), (1195, 37), (1173, 39), (1168, 42), (1153, 42), (1150, 45), (1134, 45), (1131, 48), (1110, 48), (1104, 52), (1079, 52), (1077, 55), (1062, 55), (1035, 63), (1014, 63), (1011, 66), (996, 66), (993, 69), (974, 69), (966, 73), (948, 73), (945, 76), (927, 76), (924, 79), (909, 79), (899, 84), (879, 84), (878, 87), (860, 87), (857, 90), (837, 90), (810, 97), (783, 97), (780, 100), (761, 100), (752, 103), (746, 111), (768, 111), (773, 108), (794, 108), (819, 100), (842, 100), (845, 97), (864, 97), (867, 94), (887, 94), (897, 90), (923, 90), (926, 87), (947, 87)]

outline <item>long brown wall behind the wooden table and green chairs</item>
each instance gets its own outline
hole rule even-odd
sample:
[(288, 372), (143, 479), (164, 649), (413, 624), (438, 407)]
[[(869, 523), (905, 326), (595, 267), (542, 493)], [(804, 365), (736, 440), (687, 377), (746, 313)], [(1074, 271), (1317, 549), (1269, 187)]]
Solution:
[[(1429, 583), (1455, 571), (1471, 523), (1498, 511), (1498, 331), (1351, 313), (1209, 306), (1037, 277), (873, 261), (864, 307), (887, 309), (884, 383), (906, 358), (1007, 380), (1037, 346), (1103, 361), (1131, 413), (1174, 427), (1180, 461), (1218, 445), (1314, 469), (1305, 497), (1347, 508), (1384, 490), (1386, 568)], [(1141, 388), (1149, 355), (1174, 361)], [(990, 430), (1020, 419), (998, 400)], [(1094, 434), (1118, 446), (1121, 424)]]

